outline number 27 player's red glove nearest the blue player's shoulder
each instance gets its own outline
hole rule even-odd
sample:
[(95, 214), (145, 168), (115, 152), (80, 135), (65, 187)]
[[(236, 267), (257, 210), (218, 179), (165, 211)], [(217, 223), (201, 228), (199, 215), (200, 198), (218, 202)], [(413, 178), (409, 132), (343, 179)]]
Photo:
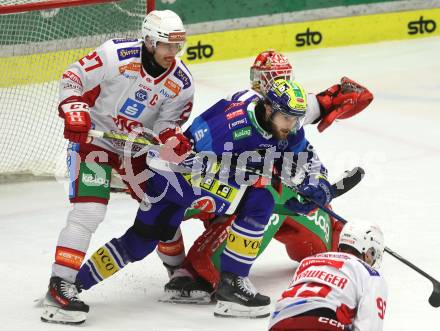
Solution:
[(159, 140), (164, 144), (160, 151), (160, 158), (166, 161), (180, 163), (192, 149), (190, 141), (179, 128), (168, 128), (161, 131)]

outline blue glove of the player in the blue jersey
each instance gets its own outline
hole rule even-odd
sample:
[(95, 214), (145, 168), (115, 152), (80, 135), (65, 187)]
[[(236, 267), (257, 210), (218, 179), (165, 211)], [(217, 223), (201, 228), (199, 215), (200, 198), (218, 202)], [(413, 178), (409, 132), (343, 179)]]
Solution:
[[(321, 206), (326, 206), (332, 201), (335, 192), (327, 178), (318, 175), (315, 178), (306, 178), (298, 187), (298, 192), (305, 198), (315, 201)], [(296, 198), (286, 201), (285, 206), (297, 214), (308, 215), (314, 212), (318, 206), (314, 202), (299, 202)]]

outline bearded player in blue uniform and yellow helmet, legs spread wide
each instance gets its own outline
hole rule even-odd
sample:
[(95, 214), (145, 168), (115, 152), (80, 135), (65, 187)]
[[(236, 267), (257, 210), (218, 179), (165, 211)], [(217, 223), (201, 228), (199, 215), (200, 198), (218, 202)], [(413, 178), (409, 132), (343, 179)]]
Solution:
[[(279, 153), (274, 164), (280, 168), (279, 161), (291, 153), (290, 161), (297, 170), (295, 179), (298, 180), (298, 174), (302, 175), (301, 192), (319, 204), (328, 204), (333, 191), (326, 169), (306, 140), (301, 125), (306, 109), (307, 95), (300, 84), (277, 79), (264, 99), (245, 102), (222, 99), (203, 112), (185, 131), (194, 143), (194, 151), (221, 156), (222, 162), (231, 156), (237, 162), (232, 166), (220, 165), (215, 176), (175, 174), (175, 183), (170, 183), (165, 176), (153, 176), (133, 226), (99, 248), (83, 264), (77, 284), (89, 289), (126, 264), (143, 259), (156, 248), (159, 240), (173, 238), (188, 207), (202, 202), (209, 204), (215, 214), (237, 214), (221, 256), (214, 314), (268, 316), (270, 298), (258, 293), (248, 275), (274, 200), (268, 190), (251, 185), (248, 173), (235, 171), (235, 164), (239, 166), (240, 159), (247, 161), (247, 156), (252, 156), (252, 166), (264, 167), (268, 153), (258, 159), (255, 151), (270, 151), (273, 156)], [(316, 208), (311, 202), (296, 199), (288, 200), (286, 206), (301, 214)]]

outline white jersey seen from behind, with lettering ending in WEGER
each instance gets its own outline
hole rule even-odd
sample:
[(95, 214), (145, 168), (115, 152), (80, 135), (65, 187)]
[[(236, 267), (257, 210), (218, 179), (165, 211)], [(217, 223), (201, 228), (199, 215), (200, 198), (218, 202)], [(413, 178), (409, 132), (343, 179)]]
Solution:
[(352, 330), (380, 331), (386, 301), (387, 286), (377, 270), (350, 254), (318, 254), (301, 261), (275, 305), (270, 327), (313, 309), (329, 308)]

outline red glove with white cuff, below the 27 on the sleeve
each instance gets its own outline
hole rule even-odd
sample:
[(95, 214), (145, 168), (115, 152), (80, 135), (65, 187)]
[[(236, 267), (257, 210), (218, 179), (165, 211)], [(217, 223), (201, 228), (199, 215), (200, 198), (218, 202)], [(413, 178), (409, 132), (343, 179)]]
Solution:
[(85, 143), (92, 121), (89, 105), (81, 101), (61, 104), (60, 116), (64, 118), (64, 138), (74, 143)]

